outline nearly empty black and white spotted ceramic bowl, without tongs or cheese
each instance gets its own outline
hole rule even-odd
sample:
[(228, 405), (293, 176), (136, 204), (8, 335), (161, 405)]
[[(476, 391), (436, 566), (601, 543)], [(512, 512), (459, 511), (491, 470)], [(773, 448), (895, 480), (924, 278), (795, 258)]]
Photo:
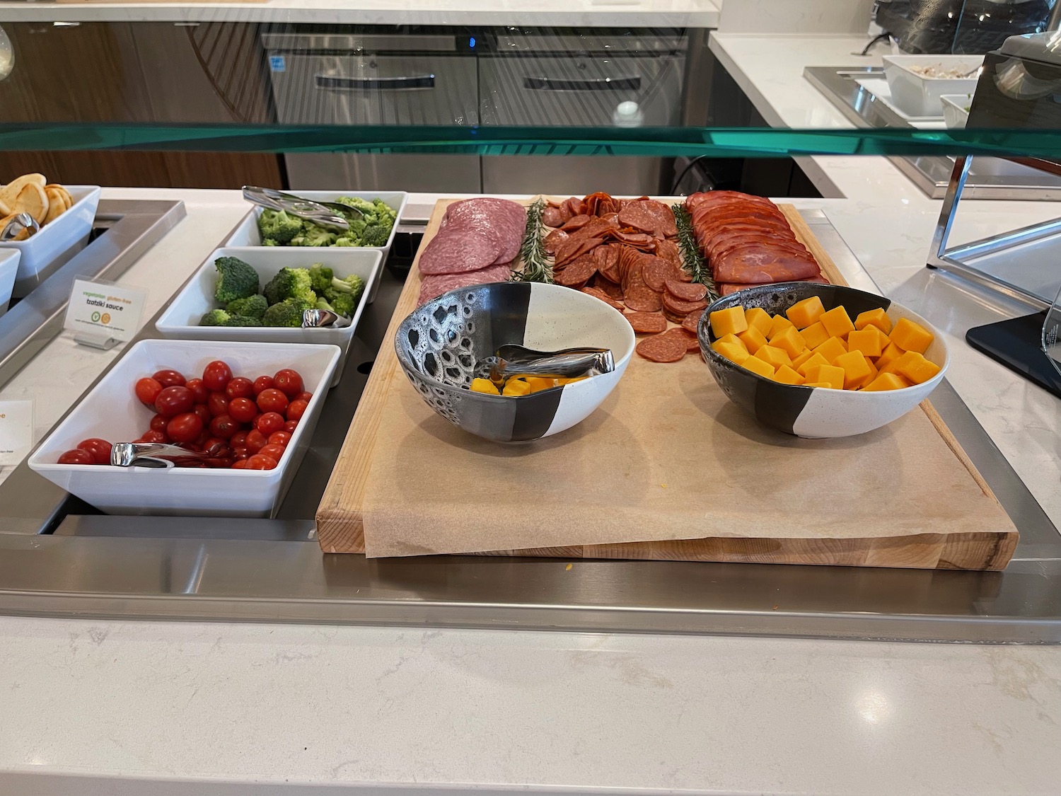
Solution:
[[(398, 328), (395, 349), (405, 376), (435, 412), (477, 436), (519, 443), (585, 420), (619, 383), (633, 343), (622, 313), (593, 296), (556, 284), (492, 282), (418, 307)], [(610, 348), (615, 369), (525, 396), (468, 390), (476, 363), (509, 344), (539, 351)]]

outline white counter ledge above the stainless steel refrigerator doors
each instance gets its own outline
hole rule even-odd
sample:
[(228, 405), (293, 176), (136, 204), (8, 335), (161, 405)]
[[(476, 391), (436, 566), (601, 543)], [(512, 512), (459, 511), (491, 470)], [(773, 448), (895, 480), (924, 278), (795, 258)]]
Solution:
[(713, 0), (264, 0), (205, 3), (0, 2), (0, 22), (291, 22), (316, 24), (716, 28)]

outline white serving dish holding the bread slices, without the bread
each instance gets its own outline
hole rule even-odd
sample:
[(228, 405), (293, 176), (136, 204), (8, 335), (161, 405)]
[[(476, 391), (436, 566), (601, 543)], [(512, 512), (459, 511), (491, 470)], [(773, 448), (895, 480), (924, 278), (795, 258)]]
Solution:
[(73, 200), (69, 210), (24, 241), (0, 243), (0, 248), (14, 248), (21, 254), (14, 290), (18, 298), (29, 295), (88, 242), (100, 205), (100, 186), (68, 185), (66, 189)]

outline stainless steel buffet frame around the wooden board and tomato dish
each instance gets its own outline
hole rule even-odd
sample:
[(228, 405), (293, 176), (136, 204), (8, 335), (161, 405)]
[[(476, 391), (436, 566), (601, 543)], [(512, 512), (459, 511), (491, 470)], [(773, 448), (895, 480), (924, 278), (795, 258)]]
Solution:
[(0, 485), (0, 612), (1061, 643), (1061, 536), (945, 383), (934, 403), (1022, 533), (1005, 572), (323, 554), (313, 513), (403, 277), (387, 269), (277, 518), (103, 516), (22, 465)]

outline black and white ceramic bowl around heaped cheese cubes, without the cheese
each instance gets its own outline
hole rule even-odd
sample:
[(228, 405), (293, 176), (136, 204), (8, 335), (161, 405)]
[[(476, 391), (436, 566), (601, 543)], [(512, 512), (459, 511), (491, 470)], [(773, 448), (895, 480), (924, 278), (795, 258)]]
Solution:
[[(753, 374), (711, 347), (715, 342), (710, 323), (712, 312), (741, 305), (745, 309), (762, 307), (771, 315), (776, 315), (810, 296), (818, 296), (825, 310), (843, 305), (852, 318), (860, 312), (880, 307), (891, 318), (892, 325), (902, 317), (920, 324), (935, 336), (924, 356), (928, 361), (939, 365), (939, 373), (923, 384), (915, 384), (903, 390), (863, 393), (805, 387), (781, 384)], [(708, 307), (703, 317), (700, 318), (697, 336), (703, 359), (711, 368), (711, 375), (731, 401), (766, 426), (786, 434), (812, 438), (864, 434), (902, 417), (936, 388), (936, 385), (943, 380), (950, 363), (942, 335), (923, 317), (883, 296), (836, 284), (780, 282), (731, 293)]]

